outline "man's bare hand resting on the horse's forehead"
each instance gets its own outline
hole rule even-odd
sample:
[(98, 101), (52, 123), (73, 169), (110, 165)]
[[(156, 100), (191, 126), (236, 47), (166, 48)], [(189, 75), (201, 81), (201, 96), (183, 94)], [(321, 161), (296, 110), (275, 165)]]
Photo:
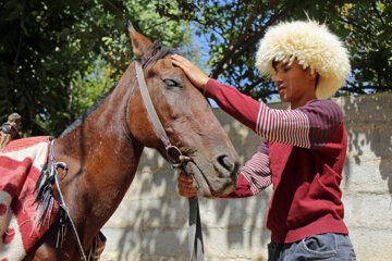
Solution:
[(196, 67), (189, 60), (179, 54), (171, 55), (172, 63), (181, 67), (191, 82), (197, 87), (204, 90), (207, 82), (210, 79), (201, 70)]

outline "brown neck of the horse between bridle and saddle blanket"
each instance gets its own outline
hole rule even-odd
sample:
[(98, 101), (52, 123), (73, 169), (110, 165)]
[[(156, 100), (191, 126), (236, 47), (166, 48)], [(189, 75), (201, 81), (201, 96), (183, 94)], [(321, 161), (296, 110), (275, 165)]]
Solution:
[[(125, 124), (132, 77), (124, 77), (87, 120), (54, 144), (57, 161), (69, 165), (61, 183), (76, 226), (95, 236), (120, 204), (144, 146)], [(73, 208), (74, 207), (74, 208)]]

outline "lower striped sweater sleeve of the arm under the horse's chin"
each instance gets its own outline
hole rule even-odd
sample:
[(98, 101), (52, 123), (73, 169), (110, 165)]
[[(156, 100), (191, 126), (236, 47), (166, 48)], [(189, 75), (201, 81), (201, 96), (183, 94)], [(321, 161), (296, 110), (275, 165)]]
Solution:
[(226, 198), (245, 198), (259, 194), (272, 183), (268, 159), (269, 141), (265, 140), (257, 152), (242, 167), (237, 186)]

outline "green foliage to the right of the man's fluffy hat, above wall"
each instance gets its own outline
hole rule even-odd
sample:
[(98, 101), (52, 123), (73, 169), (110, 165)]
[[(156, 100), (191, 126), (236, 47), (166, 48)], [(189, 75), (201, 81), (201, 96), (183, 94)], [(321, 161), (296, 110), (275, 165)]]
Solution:
[(357, 1), (339, 8), (333, 25), (346, 39), (353, 75), (343, 95), (391, 91), (392, 3)]

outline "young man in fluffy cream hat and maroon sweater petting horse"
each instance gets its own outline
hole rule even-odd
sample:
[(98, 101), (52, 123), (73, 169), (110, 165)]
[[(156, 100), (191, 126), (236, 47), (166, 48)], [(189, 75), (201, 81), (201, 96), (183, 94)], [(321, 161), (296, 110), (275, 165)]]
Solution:
[[(347, 136), (341, 108), (330, 101), (350, 73), (346, 49), (314, 21), (280, 23), (260, 41), (256, 66), (274, 79), (291, 110), (272, 110), (210, 79), (188, 60), (172, 57), (206, 97), (266, 139), (243, 166), (231, 198), (273, 184), (267, 215), (269, 260), (355, 260), (343, 222), (340, 183)], [(182, 174), (179, 190), (195, 196)]]

